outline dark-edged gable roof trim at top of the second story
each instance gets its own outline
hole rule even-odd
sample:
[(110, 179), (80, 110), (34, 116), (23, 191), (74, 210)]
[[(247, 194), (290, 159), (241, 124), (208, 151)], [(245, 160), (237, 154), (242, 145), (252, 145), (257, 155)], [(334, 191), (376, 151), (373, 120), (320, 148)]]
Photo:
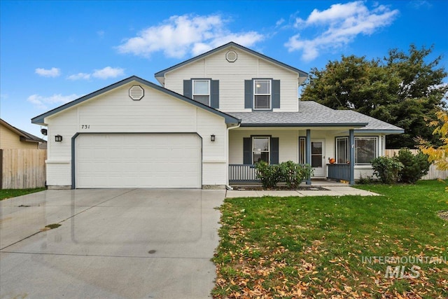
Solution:
[(159, 71), (158, 73), (155, 73), (154, 76), (155, 76), (155, 78), (163, 78), (163, 77), (165, 77), (165, 74), (167, 72), (169, 72), (169, 71), (173, 71), (174, 69), (178, 69), (179, 67), (183, 67), (186, 64), (190, 64), (190, 63), (195, 62), (197, 60), (201, 60), (202, 58), (204, 58), (206, 56), (212, 55), (212, 54), (214, 54), (214, 53), (216, 53), (218, 51), (221, 51), (221, 50), (223, 50), (225, 48), (230, 48), (230, 47), (239, 48), (239, 50), (246, 51), (248, 53), (251, 53), (252, 55), (260, 57), (263, 60), (267, 60), (269, 62), (272, 62), (273, 64), (279, 65), (280, 67), (284, 67), (285, 69), (289, 69), (290, 71), (294, 71), (295, 73), (299, 74), (300, 77), (307, 77), (308, 76), (308, 73), (306, 73), (306, 72), (304, 72), (304, 71), (302, 71), (300, 69), (296, 69), (295, 67), (291, 67), (288, 64), (284, 64), (283, 62), (279, 62), (278, 60), (274, 60), (271, 57), (267, 57), (266, 55), (262, 55), (261, 53), (255, 52), (254, 50), (251, 50), (251, 49), (246, 48), (244, 46), (241, 46), (241, 45), (239, 45), (237, 43), (234, 43), (233, 41), (231, 41), (230, 43), (226, 43), (225, 45), (223, 45), (221, 47), (215, 48), (213, 50), (209, 50), (208, 52), (206, 52), (204, 54), (198, 55), (198, 56), (193, 57), (193, 58), (191, 58), (189, 60), (186, 60), (184, 62), (176, 64), (173, 67), (169, 67), (168, 69), (164, 69), (163, 71)]

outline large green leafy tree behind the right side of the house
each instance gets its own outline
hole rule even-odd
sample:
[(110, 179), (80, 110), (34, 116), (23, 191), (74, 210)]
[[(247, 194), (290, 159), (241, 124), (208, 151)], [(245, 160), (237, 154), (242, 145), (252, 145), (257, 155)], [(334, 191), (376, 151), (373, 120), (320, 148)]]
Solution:
[[(311, 69), (302, 100), (312, 100), (332, 109), (352, 109), (405, 129), (388, 136), (387, 148), (414, 148), (416, 137), (434, 141), (426, 126), (444, 106), (448, 85), (441, 56), (430, 59), (433, 47), (411, 45), (408, 53), (389, 50), (384, 59), (342, 56), (324, 69)], [(440, 142), (440, 141), (439, 141)]]

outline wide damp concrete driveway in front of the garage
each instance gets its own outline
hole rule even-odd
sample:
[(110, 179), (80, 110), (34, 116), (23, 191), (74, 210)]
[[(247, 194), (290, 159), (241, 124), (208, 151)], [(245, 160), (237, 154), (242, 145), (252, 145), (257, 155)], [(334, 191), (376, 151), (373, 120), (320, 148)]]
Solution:
[[(209, 298), (224, 190), (46, 190), (0, 202), (0, 298)], [(59, 223), (52, 230), (45, 225)]]

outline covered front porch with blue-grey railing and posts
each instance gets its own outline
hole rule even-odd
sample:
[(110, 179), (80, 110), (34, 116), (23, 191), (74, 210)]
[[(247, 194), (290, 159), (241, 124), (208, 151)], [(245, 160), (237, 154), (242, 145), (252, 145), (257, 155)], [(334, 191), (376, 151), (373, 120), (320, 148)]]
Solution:
[[(304, 182), (307, 185), (322, 183), (322, 180), (327, 179), (350, 184), (355, 182), (354, 163), (346, 162), (355, 160), (355, 132), (352, 128), (241, 129), (232, 130), (229, 135), (228, 179), (231, 186), (260, 183), (255, 169), (257, 160), (265, 160), (269, 164), (292, 160), (311, 165), (314, 176)], [(330, 163), (330, 158), (337, 156), (335, 143), (338, 136), (346, 136), (344, 159), (336, 160), (339, 163)]]

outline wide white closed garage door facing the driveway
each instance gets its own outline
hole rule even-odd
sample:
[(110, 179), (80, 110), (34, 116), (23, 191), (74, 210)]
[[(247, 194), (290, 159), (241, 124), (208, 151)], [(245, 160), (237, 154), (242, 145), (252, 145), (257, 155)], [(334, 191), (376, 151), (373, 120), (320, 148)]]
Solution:
[(76, 188), (201, 188), (197, 134), (80, 134)]

